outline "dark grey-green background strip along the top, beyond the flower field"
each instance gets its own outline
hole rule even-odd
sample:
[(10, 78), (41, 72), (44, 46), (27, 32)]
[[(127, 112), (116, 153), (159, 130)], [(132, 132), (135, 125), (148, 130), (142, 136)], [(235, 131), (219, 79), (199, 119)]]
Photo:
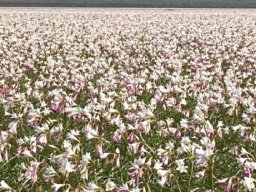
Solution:
[(0, 6), (256, 8), (256, 0), (0, 0)]

